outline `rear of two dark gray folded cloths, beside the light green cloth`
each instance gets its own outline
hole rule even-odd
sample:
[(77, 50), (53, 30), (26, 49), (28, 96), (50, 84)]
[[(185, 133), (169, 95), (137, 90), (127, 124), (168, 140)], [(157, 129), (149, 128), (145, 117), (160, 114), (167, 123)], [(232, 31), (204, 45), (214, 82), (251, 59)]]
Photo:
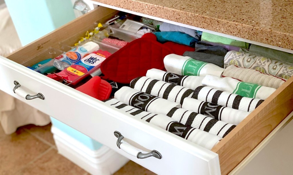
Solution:
[(222, 46), (212, 46), (210, 44), (207, 44), (205, 42), (198, 41), (195, 44), (195, 52), (202, 52), (202, 53), (209, 53), (219, 56), (225, 56), (228, 52), (225, 48)]

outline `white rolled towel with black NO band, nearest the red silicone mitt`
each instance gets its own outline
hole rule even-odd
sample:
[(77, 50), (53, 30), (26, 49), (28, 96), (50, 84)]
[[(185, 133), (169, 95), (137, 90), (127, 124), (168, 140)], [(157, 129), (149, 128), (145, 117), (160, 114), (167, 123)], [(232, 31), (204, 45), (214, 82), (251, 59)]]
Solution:
[(127, 86), (115, 92), (114, 97), (127, 105), (156, 114), (166, 115), (172, 108), (181, 107), (179, 103), (149, 95)]

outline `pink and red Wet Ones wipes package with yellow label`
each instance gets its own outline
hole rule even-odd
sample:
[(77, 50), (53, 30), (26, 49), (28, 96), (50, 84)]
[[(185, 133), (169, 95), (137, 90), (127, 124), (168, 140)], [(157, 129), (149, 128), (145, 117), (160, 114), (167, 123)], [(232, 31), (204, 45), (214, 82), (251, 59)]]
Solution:
[(67, 67), (59, 73), (55, 73), (56, 76), (63, 79), (66, 83), (76, 84), (89, 75), (90, 72), (95, 71), (101, 65), (101, 63), (111, 55), (108, 51), (98, 50), (86, 57), (82, 58), (75, 64)]

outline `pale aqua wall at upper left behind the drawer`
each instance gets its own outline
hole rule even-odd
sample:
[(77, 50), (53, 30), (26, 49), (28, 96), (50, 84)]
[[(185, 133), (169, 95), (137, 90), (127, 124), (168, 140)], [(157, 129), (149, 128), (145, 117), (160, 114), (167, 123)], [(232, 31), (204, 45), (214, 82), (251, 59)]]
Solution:
[(23, 46), (75, 19), (71, 0), (5, 0)]

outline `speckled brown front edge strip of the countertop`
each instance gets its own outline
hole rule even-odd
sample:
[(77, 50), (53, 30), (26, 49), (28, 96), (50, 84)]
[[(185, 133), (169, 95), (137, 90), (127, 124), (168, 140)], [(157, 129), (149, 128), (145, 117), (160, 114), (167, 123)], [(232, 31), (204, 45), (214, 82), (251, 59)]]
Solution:
[[(279, 31), (262, 29), (232, 21), (225, 21), (212, 17), (171, 9), (155, 4), (139, 2), (135, 0), (94, 0), (99, 3), (123, 8), (126, 10), (143, 13), (146, 15), (187, 24), (190, 26), (207, 29), (222, 34), (236, 36), (272, 46), (293, 50), (293, 34), (286, 34)], [(190, 20), (195, 19), (195, 20)], [(212, 25), (211, 25), (212, 24)], [(213, 24), (217, 24), (216, 26)]]

